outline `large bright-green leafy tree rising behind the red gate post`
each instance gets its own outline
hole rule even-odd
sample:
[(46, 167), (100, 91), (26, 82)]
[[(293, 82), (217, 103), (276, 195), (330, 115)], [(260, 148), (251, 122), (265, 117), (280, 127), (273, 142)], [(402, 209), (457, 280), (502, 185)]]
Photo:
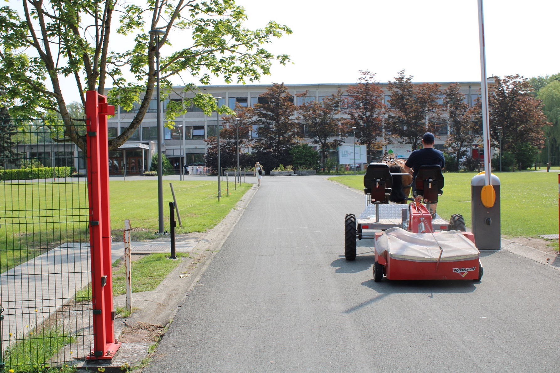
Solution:
[[(262, 45), (291, 30), (274, 21), (262, 29), (249, 30), (243, 26), (246, 18), (244, 8), (233, 0), (22, 0), (21, 12), (1, 7), (0, 86), (7, 90), (0, 103), (10, 107), (12, 116), (57, 112), (64, 119), (66, 137), (84, 150), (86, 138), (74, 128), (61, 79), (76, 80), (82, 105), (84, 91), (104, 94), (111, 84), (110, 103), (126, 110), (140, 103), (128, 128), (109, 140), (109, 149), (118, 148), (141, 124), (156, 82), (156, 40), (145, 30), (164, 31), (160, 50), (171, 50), (160, 64), (163, 99), (172, 91), (173, 78), (197, 77), (200, 83), (208, 84), (214, 75), (228, 83), (244, 83), (269, 74), (273, 59), (285, 64), (287, 55), (275, 56)], [(111, 31), (120, 34), (118, 47), (113, 49)], [(177, 45), (171, 48), (172, 36)], [(133, 80), (128, 81), (127, 76)], [(192, 103), (207, 114), (216, 110), (212, 96), (198, 92), (194, 83), (186, 84), (179, 93), (186, 92), (195, 95), (167, 106), (168, 125)], [(222, 107), (220, 112), (229, 110)]]

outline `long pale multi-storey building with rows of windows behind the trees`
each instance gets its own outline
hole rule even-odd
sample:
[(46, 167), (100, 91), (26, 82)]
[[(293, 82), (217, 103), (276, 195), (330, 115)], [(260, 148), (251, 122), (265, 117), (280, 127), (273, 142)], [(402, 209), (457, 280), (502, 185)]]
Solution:
[[(454, 82), (438, 83), (441, 84), (441, 90), (443, 91), (449, 84)], [(296, 97), (295, 104), (300, 105), (304, 100), (321, 101), (323, 97), (336, 93), (338, 88), (346, 92), (346, 89), (354, 84), (355, 83), (285, 85), (294, 97), (298, 93), (308, 92), (308, 97)], [(475, 100), (480, 97), (480, 82), (459, 82), (459, 84), (461, 86), (461, 92), (465, 95), (465, 101), (469, 103), (469, 106), (474, 105)], [(387, 92), (387, 83), (381, 83), (380, 86)], [(232, 84), (225, 86), (203, 86), (200, 87), (200, 91), (210, 93), (215, 97), (222, 97), (218, 105), (227, 105), (228, 107), (234, 108), (236, 104), (241, 106), (255, 105), (259, 102), (259, 96), (267, 91), (268, 87), (270, 87), (270, 84)], [(180, 92), (181, 89), (182, 87), (177, 87), (176, 91)], [(186, 95), (186, 97), (194, 97), (194, 95)], [(169, 100), (181, 100), (181, 97), (172, 94)], [(164, 111), (169, 100), (166, 100), (162, 104)], [(389, 95), (387, 93), (385, 95), (385, 103), (387, 103), (388, 100)], [(442, 98), (440, 100), (442, 101)], [(109, 137), (118, 136), (121, 130), (127, 128), (136, 115), (138, 106), (130, 111), (125, 111), (122, 107), (116, 108), (116, 115), (109, 119)], [(155, 154), (157, 148), (156, 112), (156, 100), (152, 99), (141, 127), (134, 132), (122, 147), (110, 152), (109, 167), (111, 174), (122, 174), (123, 169), (126, 169), (127, 174), (139, 174), (143, 170), (147, 171), (149, 169), (151, 157)], [(294, 116), (296, 116), (296, 113)], [(167, 158), (169, 158), (171, 164), (175, 166), (177, 172), (179, 172), (181, 164), (204, 162), (204, 154), (206, 154), (206, 143), (204, 143), (204, 139), (207, 139), (208, 136), (216, 135), (217, 121), (216, 115), (209, 117), (204, 115), (199, 108), (192, 107), (192, 110), (175, 120), (178, 128), (170, 130), (164, 126), (162, 151)], [(436, 131), (436, 136), (438, 136), (438, 138), (435, 143), (437, 149), (444, 149), (448, 131), (449, 128), (445, 122), (438, 124)], [(258, 134), (253, 133), (251, 136), (256, 138)], [(312, 138), (307, 137), (307, 140), (311, 141)], [(352, 140), (352, 137), (346, 139), (348, 143), (352, 143)], [(479, 156), (478, 149), (472, 149), (472, 155), (473, 157)], [(482, 155), (482, 152), (480, 152), (480, 155)]]

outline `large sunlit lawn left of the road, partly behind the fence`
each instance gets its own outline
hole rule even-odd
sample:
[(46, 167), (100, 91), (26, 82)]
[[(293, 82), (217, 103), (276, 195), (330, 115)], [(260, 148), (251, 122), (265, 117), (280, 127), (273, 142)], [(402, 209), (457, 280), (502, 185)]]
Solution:
[[(222, 183), (217, 200), (215, 181), (174, 181), (183, 228), (176, 233), (205, 232), (229, 213), (251, 184)], [(122, 236), (130, 219), (132, 239), (156, 238), (158, 229), (157, 180), (110, 181), (111, 230)], [(0, 272), (65, 242), (88, 240), (88, 201), (85, 183), (2, 183), (0, 191)], [(165, 230), (169, 231), (169, 183), (164, 185)]]

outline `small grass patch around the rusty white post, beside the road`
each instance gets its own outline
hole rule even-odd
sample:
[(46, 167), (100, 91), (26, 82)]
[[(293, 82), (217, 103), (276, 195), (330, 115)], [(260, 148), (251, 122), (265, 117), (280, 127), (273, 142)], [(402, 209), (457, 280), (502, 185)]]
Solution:
[[(188, 257), (188, 254), (178, 253), (177, 257)], [(180, 259), (170, 259), (167, 253), (150, 254), (132, 262), (132, 292), (156, 289), (180, 262)], [(113, 295), (126, 294), (126, 292), (124, 266), (120, 266), (113, 271)]]

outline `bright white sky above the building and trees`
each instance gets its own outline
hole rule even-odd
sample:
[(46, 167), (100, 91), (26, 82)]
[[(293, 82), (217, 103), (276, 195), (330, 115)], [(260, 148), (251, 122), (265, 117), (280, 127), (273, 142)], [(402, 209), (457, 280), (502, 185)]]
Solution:
[[(380, 82), (399, 70), (415, 82), (480, 81), (477, 0), (237, 0), (248, 14), (245, 26), (270, 20), (293, 34), (265, 48), (288, 54), (260, 84), (353, 83), (359, 70)], [(488, 75), (533, 77), (560, 72), (558, 0), (484, 0)], [(125, 43), (112, 34), (110, 48)], [(175, 35), (176, 36), (176, 35)], [(180, 36), (180, 35), (179, 35)], [(174, 47), (188, 43), (175, 37)], [(169, 50), (170, 51), (170, 50)], [(162, 55), (166, 53), (162, 49)], [(175, 84), (193, 81), (172, 79)], [(213, 78), (212, 84), (225, 84)], [(72, 78), (64, 92), (76, 93)]]

